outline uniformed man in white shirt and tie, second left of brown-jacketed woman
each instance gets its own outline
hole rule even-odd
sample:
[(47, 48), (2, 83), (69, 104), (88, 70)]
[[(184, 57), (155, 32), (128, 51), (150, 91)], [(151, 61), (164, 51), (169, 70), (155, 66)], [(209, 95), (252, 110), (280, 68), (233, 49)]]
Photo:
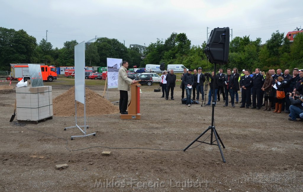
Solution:
[[(249, 76), (250, 71), (245, 70), (245, 75), (241, 77), (240, 80), (240, 87), (242, 88), (242, 105), (240, 108), (249, 108), (249, 105), (251, 104), (251, 87), (252, 87), (252, 78)], [(246, 106), (245, 106), (246, 103)]]

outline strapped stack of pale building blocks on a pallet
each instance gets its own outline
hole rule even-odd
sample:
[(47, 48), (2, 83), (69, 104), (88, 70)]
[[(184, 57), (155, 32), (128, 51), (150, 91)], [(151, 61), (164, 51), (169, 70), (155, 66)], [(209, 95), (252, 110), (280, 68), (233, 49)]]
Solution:
[(53, 116), (52, 86), (17, 87), (17, 120), (39, 121)]

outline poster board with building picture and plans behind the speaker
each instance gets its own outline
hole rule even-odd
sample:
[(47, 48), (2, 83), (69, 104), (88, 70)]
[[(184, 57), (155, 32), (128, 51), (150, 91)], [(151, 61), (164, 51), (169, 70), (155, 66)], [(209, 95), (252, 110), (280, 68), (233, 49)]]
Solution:
[(122, 65), (122, 59), (107, 59), (107, 86), (108, 88), (118, 88), (118, 71)]

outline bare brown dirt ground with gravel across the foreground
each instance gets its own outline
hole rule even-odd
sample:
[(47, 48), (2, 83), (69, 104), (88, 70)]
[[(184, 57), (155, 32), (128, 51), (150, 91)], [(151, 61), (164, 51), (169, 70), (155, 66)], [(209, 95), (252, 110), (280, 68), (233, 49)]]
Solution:
[[(58, 82), (45, 83), (53, 98), (72, 87)], [(166, 101), (154, 92), (158, 85), (141, 86), (141, 120), (87, 116), (87, 133), (96, 136), (71, 140), (82, 135), (64, 130), (75, 126), (74, 116), (10, 123), (15, 89), (6, 84), (0, 84), (0, 191), (303, 191), (303, 123), (285, 113), (223, 107), (221, 99), (214, 117), (224, 163), (215, 145), (195, 142), (183, 151), (211, 125), (211, 107), (182, 105), (179, 87)], [(87, 88), (103, 94), (104, 87)], [(118, 101), (119, 92), (106, 91), (105, 98)], [(210, 134), (199, 140), (209, 142)], [(55, 168), (64, 163), (66, 169)]]

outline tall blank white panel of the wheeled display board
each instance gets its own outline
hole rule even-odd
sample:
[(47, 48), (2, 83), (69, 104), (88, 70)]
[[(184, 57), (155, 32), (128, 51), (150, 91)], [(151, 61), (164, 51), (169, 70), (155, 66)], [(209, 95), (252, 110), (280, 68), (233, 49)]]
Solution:
[(75, 100), (85, 104), (85, 41), (75, 46)]

